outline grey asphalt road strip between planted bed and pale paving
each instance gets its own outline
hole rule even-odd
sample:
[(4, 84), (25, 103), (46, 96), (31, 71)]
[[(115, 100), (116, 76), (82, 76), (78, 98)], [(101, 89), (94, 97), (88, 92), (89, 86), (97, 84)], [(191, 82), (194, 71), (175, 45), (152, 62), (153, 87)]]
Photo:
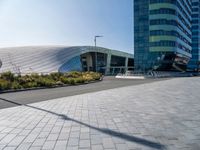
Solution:
[[(144, 83), (157, 82), (160, 80), (167, 80), (163, 78), (146, 79), (146, 80), (124, 80), (116, 79), (113, 76), (105, 76), (100, 82), (66, 86), (58, 88), (47, 88), (40, 90), (28, 90), (21, 92), (1, 93), (0, 98), (9, 99), (13, 102), (20, 104), (30, 104), (41, 102), (49, 99), (56, 99), (61, 97), (68, 97), (73, 95), (80, 95), (84, 93), (97, 92), (107, 89), (114, 89), (118, 87), (125, 87), (130, 85), (139, 85)], [(0, 109), (17, 106), (15, 103), (9, 103), (0, 100)]]

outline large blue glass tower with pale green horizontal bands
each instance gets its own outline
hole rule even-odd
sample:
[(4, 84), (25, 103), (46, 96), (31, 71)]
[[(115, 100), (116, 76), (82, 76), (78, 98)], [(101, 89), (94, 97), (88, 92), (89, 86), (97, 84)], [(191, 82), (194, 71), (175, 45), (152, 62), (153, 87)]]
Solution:
[(134, 0), (135, 70), (186, 70), (191, 16), (191, 0)]

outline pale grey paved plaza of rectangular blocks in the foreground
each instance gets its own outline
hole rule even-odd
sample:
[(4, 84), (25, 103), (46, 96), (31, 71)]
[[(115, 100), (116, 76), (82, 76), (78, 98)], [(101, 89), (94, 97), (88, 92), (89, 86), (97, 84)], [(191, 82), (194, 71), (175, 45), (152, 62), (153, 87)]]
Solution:
[(4, 150), (199, 150), (200, 78), (174, 78), (0, 110)]

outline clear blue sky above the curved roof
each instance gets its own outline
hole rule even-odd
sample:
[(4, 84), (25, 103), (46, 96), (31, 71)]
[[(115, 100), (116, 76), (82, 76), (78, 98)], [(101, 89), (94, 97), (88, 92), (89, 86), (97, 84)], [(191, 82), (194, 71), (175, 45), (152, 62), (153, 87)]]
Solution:
[(0, 0), (0, 47), (97, 45), (133, 53), (133, 0)]

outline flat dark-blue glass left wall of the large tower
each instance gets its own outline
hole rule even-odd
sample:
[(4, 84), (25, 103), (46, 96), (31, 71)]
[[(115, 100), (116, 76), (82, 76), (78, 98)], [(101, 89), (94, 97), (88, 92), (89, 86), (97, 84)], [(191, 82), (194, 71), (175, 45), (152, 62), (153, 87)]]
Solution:
[(144, 71), (149, 55), (149, 1), (134, 0), (134, 68)]

